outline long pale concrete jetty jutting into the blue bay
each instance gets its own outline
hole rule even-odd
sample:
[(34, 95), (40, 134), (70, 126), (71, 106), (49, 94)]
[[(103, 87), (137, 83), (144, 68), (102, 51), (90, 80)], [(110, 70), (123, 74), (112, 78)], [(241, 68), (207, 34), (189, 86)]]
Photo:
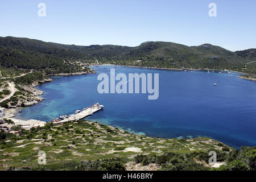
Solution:
[(63, 124), (68, 121), (77, 121), (79, 119), (83, 119), (85, 117), (88, 117), (88, 115), (93, 115), (93, 113), (97, 112), (98, 110), (101, 110), (103, 107), (104, 107), (104, 105), (100, 105), (98, 103), (93, 104), (92, 107), (84, 108), (81, 111), (77, 110), (75, 112), (75, 114), (71, 114), (67, 118), (62, 119), (60, 121), (53, 122), (53, 124), (58, 125), (58, 124)]

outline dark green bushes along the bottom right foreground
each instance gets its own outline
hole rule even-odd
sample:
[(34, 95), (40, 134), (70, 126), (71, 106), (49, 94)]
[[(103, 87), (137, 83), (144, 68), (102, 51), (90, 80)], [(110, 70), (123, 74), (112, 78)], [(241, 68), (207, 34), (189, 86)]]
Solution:
[[(192, 152), (191, 154), (174, 154), (172, 152), (164, 155), (137, 155), (135, 161), (144, 166), (156, 163), (167, 171), (255, 171), (256, 170), (256, 147), (242, 147), (241, 150), (233, 149), (231, 152), (217, 152), (217, 162), (226, 162), (220, 168), (205, 167), (208, 163), (208, 151)], [(196, 161), (200, 161), (198, 163)]]

